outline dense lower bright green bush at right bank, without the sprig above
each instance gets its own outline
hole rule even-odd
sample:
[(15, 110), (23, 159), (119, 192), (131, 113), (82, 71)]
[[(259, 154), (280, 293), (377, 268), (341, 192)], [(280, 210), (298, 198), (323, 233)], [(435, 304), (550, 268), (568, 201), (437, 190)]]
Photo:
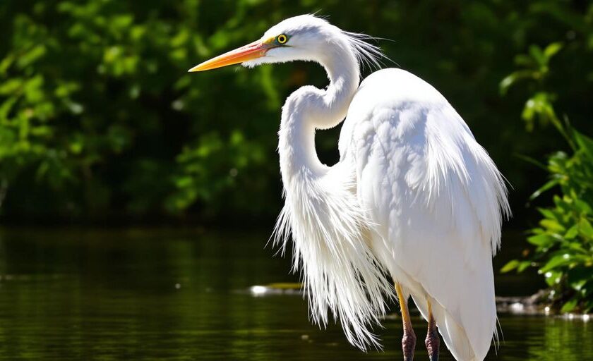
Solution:
[(593, 140), (567, 129), (576, 145), (570, 156), (556, 152), (548, 159), (550, 181), (533, 197), (556, 185), (553, 207), (540, 208), (539, 226), (527, 242), (534, 252), (527, 260), (508, 262), (501, 271), (537, 267), (553, 288), (552, 302), (561, 312), (593, 310)]

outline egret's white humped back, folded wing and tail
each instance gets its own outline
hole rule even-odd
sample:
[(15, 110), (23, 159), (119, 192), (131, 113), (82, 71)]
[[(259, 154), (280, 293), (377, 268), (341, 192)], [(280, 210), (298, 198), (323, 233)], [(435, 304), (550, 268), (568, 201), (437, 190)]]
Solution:
[(431, 85), (385, 69), (354, 96), (340, 156), (356, 164), (376, 257), (425, 317), (432, 301), (458, 360), (483, 360), (496, 331), (491, 257), (509, 209), (486, 151)]

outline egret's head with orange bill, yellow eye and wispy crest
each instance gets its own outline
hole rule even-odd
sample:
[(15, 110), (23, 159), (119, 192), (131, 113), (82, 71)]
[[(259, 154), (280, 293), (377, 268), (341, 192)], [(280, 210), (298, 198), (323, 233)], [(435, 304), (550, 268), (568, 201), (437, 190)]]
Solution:
[(294, 16), (270, 27), (255, 42), (204, 61), (189, 71), (207, 71), (237, 63), (247, 67), (298, 60), (323, 63), (337, 50), (348, 51), (357, 61), (377, 63), (382, 54), (378, 47), (364, 42), (369, 38), (342, 31), (316, 16)]

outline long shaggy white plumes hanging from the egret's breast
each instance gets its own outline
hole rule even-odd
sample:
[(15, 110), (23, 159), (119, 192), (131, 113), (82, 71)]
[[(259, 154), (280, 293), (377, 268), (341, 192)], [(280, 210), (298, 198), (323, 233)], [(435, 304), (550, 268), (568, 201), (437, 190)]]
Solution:
[(353, 180), (344, 167), (322, 177), (302, 169), (286, 189), (275, 243), (284, 247), (292, 235), (293, 269), (303, 276), (313, 321), (327, 324), (330, 310), (348, 340), (365, 349), (379, 347), (368, 326), (379, 323), (392, 286), (365, 242), (369, 222)]

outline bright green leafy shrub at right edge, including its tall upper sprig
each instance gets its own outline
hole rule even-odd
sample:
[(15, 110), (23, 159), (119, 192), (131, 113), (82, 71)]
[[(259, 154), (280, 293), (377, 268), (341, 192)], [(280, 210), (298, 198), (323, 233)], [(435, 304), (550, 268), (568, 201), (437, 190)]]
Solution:
[(526, 259), (508, 262), (501, 271), (522, 272), (537, 267), (552, 290), (550, 301), (560, 312), (590, 312), (593, 310), (593, 140), (570, 126), (568, 118), (562, 122), (553, 109), (556, 93), (546, 87), (546, 79), (550, 59), (561, 48), (559, 43), (550, 44), (544, 50), (530, 47), (529, 55), (516, 58), (522, 69), (501, 82), (503, 93), (520, 80), (534, 82), (534, 94), (522, 112), (527, 128), (533, 130), (536, 119), (541, 126), (551, 123), (570, 148), (570, 153), (554, 152), (547, 165), (539, 165), (549, 173), (549, 181), (530, 200), (553, 189), (560, 190), (560, 195), (553, 195), (551, 207), (539, 208), (539, 226), (532, 228), (527, 238), (534, 251)]

